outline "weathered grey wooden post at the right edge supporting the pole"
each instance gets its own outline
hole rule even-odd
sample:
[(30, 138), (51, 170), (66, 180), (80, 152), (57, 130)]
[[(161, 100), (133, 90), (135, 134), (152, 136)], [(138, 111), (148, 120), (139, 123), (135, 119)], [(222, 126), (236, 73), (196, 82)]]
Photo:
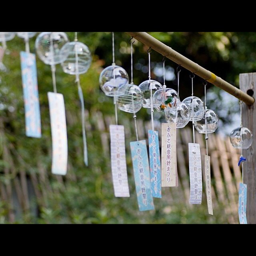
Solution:
[[(239, 84), (243, 92), (254, 96), (256, 73), (240, 74)], [(242, 104), (243, 126), (252, 131), (254, 139), (252, 146), (248, 150), (243, 150), (243, 155), (247, 159), (244, 162), (244, 184), (247, 184), (246, 217), (248, 224), (256, 224), (256, 109), (254, 105), (255, 103), (251, 106)]]

